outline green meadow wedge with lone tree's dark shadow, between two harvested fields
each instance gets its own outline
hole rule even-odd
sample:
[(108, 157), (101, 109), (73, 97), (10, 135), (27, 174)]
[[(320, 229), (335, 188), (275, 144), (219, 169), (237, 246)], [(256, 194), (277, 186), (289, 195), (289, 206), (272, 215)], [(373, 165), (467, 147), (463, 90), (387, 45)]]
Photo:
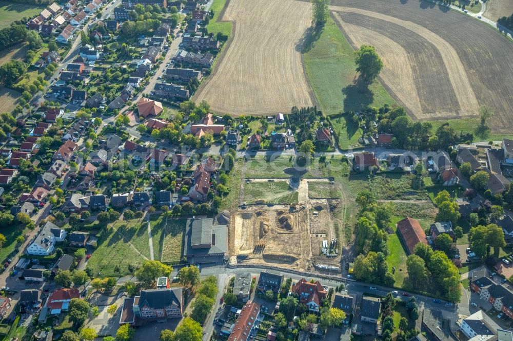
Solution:
[[(314, 32), (304, 46), (306, 73), (325, 115), (395, 103), (378, 82), (370, 84), (369, 91), (354, 84), (358, 75), (353, 51), (330, 17), (322, 32)], [(344, 130), (338, 133), (340, 147), (347, 148), (353, 136)]]

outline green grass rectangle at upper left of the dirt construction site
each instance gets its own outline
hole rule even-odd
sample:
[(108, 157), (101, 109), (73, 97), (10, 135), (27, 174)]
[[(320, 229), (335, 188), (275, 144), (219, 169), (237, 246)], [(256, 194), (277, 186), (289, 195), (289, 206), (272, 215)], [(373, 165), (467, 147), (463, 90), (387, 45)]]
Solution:
[(292, 204), (298, 202), (298, 192), (286, 181), (253, 181), (244, 186), (244, 202), (248, 204)]

